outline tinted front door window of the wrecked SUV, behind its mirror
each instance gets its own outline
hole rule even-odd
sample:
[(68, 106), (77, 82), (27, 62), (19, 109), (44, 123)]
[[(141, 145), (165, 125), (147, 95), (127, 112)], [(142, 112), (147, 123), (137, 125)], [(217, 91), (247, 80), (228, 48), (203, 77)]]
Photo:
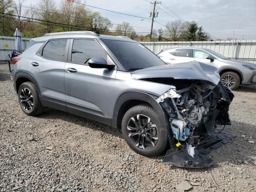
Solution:
[(107, 54), (95, 40), (74, 39), (71, 61), (86, 64), (90, 58), (103, 57), (107, 60)]

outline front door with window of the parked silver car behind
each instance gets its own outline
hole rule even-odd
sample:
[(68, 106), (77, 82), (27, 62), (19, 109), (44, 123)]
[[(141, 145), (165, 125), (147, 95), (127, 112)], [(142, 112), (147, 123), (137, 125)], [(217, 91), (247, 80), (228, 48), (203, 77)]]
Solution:
[[(207, 57), (213, 58), (214, 61), (211, 62), (210, 59), (206, 59)], [(193, 58), (191, 61), (198, 61), (198, 62), (203, 62), (203, 63), (208, 63), (214, 67), (218, 67), (218, 59), (212, 56), (210, 53), (205, 52), (203, 50), (199, 49), (193, 49)]]

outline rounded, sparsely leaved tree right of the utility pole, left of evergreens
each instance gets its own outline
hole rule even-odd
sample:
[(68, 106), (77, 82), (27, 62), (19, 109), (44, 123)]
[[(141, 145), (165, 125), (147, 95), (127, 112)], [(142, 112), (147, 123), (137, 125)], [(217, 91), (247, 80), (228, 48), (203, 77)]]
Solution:
[(164, 30), (164, 33), (167, 37), (171, 38), (173, 41), (177, 41), (182, 35), (183, 30), (184, 30), (184, 24), (182, 23), (182, 21), (175, 20), (175, 21), (166, 23), (166, 29)]

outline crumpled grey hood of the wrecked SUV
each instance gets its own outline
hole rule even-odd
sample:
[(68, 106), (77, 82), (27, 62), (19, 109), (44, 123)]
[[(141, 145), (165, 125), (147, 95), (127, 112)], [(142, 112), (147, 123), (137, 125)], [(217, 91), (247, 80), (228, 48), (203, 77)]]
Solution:
[(217, 85), (220, 81), (218, 69), (202, 62), (187, 62), (168, 64), (136, 70), (131, 72), (136, 79), (144, 78), (174, 78), (206, 80)]

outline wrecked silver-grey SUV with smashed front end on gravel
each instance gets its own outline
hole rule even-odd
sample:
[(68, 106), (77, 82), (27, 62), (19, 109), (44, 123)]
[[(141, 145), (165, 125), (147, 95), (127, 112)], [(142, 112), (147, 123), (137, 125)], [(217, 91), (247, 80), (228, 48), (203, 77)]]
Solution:
[(230, 123), (233, 95), (216, 68), (166, 65), (126, 37), (62, 32), (33, 38), (14, 58), (13, 74), (27, 115), (50, 107), (121, 128), (127, 144), (146, 156), (160, 154), (168, 138), (175, 150), (177, 142), (195, 146), (216, 124)]

